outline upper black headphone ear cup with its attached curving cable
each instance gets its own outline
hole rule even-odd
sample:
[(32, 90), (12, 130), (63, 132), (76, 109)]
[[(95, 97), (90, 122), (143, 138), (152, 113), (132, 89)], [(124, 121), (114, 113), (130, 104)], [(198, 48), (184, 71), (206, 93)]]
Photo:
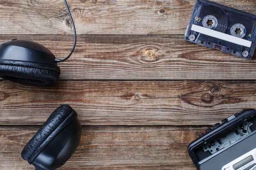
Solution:
[(76, 46), (76, 28), (66, 0), (64, 2), (74, 29), (74, 45), (70, 54), (60, 60), (37, 42), (17, 39), (2, 42), (0, 44), (1, 78), (33, 86), (49, 86), (58, 81), (61, 70), (57, 63), (67, 60)]

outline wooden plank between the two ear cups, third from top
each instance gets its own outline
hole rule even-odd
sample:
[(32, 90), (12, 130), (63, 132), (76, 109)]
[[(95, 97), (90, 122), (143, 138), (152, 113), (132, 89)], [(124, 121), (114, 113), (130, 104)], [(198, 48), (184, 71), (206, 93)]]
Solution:
[(0, 82), (0, 125), (40, 125), (70, 104), (83, 125), (209, 125), (256, 108), (255, 81)]

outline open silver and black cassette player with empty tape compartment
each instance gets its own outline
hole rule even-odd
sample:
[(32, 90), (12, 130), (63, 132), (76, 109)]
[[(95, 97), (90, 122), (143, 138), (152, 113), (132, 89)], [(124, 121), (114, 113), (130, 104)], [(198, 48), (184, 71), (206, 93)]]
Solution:
[(256, 170), (256, 110), (222, 120), (189, 145), (198, 170)]

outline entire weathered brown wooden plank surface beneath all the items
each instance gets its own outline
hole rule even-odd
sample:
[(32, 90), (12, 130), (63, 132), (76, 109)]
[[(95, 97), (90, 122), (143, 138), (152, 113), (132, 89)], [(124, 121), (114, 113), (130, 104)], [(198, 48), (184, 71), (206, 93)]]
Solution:
[[(256, 1), (212, 0), (256, 14)], [(194, 0), (68, 0), (78, 43), (51, 87), (0, 81), (0, 169), (33, 169), (20, 152), (55, 108), (70, 104), (81, 143), (60, 170), (195, 170), (189, 143), (256, 108), (256, 55), (184, 40)], [(63, 0), (1, 0), (0, 41), (34, 40), (56, 57), (72, 47)]]

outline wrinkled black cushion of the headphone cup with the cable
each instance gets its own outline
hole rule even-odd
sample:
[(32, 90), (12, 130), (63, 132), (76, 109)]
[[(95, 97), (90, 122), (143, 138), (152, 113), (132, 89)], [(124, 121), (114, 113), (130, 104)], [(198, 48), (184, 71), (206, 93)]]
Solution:
[(0, 60), (0, 77), (33, 86), (49, 86), (58, 82), (58, 66), (34, 62)]

